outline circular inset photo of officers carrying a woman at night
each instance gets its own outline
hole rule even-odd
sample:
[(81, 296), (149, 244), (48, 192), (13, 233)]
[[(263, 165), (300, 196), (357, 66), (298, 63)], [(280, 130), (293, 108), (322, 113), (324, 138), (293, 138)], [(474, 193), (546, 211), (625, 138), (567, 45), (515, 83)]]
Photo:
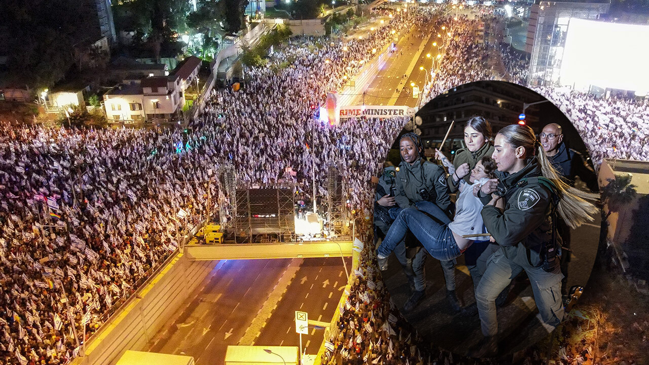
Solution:
[(502, 81), (447, 90), (406, 125), (377, 184), (384, 282), (432, 346), (520, 351), (589, 279), (598, 190), (582, 138), (545, 97)]

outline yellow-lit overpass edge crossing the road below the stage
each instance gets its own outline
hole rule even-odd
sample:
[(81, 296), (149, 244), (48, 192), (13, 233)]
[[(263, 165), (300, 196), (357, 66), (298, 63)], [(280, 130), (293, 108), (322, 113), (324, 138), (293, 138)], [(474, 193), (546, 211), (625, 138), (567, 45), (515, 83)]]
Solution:
[(249, 260), (253, 258), (349, 257), (353, 242), (313, 241), (271, 244), (189, 244), (184, 255), (189, 260)]

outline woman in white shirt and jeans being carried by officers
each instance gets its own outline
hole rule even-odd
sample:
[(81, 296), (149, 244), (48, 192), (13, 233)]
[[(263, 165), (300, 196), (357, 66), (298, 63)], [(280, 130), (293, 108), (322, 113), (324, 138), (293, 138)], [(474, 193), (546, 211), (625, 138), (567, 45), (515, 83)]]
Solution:
[[(476, 184), (480, 186), (488, 179), (493, 179), (495, 170), (496, 164), (491, 157), (483, 157), (471, 171), (469, 179), (471, 184), (460, 180), (460, 192), (453, 221), (450, 221), (434, 204), (420, 206), (422, 210), (417, 208), (402, 210), (377, 249), (381, 270), (386, 270), (387, 257), (403, 240), (408, 230), (417, 237), (432, 257), (439, 260), (452, 260), (461, 255), (474, 240), (484, 240), (485, 238), (482, 237), (469, 239), (462, 236), (485, 233), (482, 216), (480, 216), (482, 203), (473, 195), (473, 186)], [(459, 179), (462, 177), (464, 176)]]

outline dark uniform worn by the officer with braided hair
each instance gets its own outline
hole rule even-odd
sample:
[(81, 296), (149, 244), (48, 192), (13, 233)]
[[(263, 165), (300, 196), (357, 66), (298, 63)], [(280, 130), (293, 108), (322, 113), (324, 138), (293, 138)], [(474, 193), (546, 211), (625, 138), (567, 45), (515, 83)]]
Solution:
[[(428, 195), (428, 196), (422, 196)], [(427, 198), (427, 199), (424, 199)], [(426, 161), (423, 158), (414, 164), (402, 161), (399, 164), (396, 179), (395, 201), (400, 209), (392, 209), (390, 214), (396, 218), (401, 209), (415, 207), (421, 201), (431, 201), (448, 214), (451, 207), (448, 195), (446, 172), (439, 165)], [(415, 289), (423, 291), (426, 288), (424, 280), (424, 260), (426, 251), (419, 249), (412, 259), (412, 268), (415, 272)], [(455, 260), (439, 261), (444, 273), (447, 290), (455, 290)], [(419, 273), (421, 272), (421, 275)]]

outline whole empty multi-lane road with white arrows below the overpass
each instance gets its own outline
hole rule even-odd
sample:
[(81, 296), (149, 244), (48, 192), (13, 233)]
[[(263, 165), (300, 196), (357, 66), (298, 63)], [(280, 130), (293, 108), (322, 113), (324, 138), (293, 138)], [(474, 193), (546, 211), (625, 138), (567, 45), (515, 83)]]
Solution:
[[(206, 365), (222, 363), (228, 345), (298, 346), (295, 310), (330, 321), (343, 286), (340, 257), (224, 260), (153, 334), (147, 351), (189, 355)], [(323, 331), (302, 336), (306, 353), (317, 353)]]

